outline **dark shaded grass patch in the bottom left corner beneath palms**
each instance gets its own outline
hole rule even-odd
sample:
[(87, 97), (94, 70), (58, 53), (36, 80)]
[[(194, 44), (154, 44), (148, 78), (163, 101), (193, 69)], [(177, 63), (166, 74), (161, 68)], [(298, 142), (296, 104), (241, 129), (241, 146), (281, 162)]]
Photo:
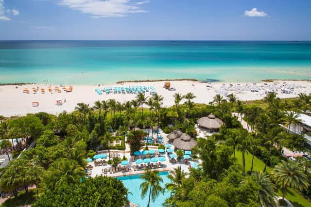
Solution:
[(12, 196), (6, 201), (4, 201), (1, 207), (17, 207), (17, 206), (25, 206), (35, 202), (35, 189), (29, 190), (28, 193), (25, 191), (21, 191), (18, 193), (17, 199)]

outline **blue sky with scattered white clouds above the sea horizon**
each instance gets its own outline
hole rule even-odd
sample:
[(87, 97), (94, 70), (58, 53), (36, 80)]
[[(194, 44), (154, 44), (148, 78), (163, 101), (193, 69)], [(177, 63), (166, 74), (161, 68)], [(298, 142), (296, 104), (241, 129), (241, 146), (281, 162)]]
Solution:
[(0, 0), (0, 40), (311, 40), (311, 0)]

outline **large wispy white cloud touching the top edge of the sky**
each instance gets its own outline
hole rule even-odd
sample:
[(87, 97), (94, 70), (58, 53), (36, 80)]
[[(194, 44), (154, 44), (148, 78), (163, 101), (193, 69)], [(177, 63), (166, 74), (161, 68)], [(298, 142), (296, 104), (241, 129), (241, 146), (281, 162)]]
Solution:
[(147, 12), (140, 9), (137, 3), (131, 3), (131, 0), (60, 0), (60, 4), (90, 14), (95, 18), (120, 17), (130, 13)]

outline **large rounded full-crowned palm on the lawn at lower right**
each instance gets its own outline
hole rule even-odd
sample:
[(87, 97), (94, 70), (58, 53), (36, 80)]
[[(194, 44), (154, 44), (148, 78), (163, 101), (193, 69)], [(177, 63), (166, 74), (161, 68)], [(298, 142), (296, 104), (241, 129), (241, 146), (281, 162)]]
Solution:
[(282, 160), (282, 163), (278, 164), (271, 172), (271, 177), (280, 187), (283, 200), (288, 188), (302, 191), (306, 190), (310, 185), (308, 176), (303, 172), (303, 167), (300, 163), (293, 161), (286, 162)]

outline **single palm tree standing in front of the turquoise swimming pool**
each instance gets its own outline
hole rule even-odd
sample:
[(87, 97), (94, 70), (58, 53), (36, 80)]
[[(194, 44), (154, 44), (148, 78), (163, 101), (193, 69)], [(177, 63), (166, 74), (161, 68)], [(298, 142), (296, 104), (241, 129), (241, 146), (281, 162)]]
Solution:
[(147, 205), (147, 207), (149, 207), (150, 197), (152, 198), (152, 201), (155, 201), (155, 198), (160, 193), (164, 194), (164, 188), (162, 188), (160, 184), (160, 182), (163, 182), (163, 180), (159, 176), (157, 170), (155, 171), (147, 170), (144, 174), (140, 175), (139, 178), (144, 180), (144, 182), (142, 182), (139, 186), (139, 189), (141, 190), (141, 197), (144, 198), (149, 190), (149, 199)]

